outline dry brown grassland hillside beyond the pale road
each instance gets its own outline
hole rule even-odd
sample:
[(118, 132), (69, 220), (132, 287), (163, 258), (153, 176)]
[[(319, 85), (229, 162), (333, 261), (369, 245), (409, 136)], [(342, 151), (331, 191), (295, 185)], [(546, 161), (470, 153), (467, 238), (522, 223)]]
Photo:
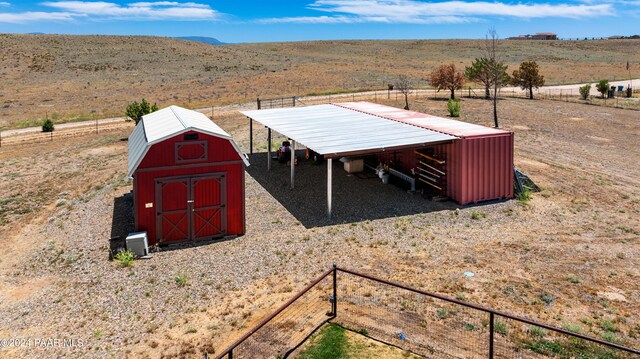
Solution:
[[(436, 66), (463, 69), (483, 49), (481, 40), (211, 46), (163, 37), (0, 34), (0, 130), (38, 126), (45, 117), (55, 123), (119, 117), (142, 97), (160, 107), (200, 108), (386, 89), (398, 75), (424, 87)], [(548, 85), (626, 80), (626, 61), (640, 63), (640, 40), (505, 40), (500, 49), (509, 72), (535, 60)]]

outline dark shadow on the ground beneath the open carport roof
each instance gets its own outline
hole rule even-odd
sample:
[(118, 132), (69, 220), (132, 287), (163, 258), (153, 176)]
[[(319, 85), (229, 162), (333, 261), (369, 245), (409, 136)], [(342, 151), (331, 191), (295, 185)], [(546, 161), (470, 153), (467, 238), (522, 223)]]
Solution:
[[(302, 152), (298, 158), (304, 158)], [(327, 165), (301, 160), (296, 166), (295, 189), (290, 188), (291, 168), (272, 162), (267, 171), (267, 154), (250, 155), (247, 172), (306, 228), (406, 216), (458, 206), (432, 202), (419, 193), (385, 185), (373, 173), (352, 175), (342, 163), (333, 161), (333, 216), (327, 217)]]

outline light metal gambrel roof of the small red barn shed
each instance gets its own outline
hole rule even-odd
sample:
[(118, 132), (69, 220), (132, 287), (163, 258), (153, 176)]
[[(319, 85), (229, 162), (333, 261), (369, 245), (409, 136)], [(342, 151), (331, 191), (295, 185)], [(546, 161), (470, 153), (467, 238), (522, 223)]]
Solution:
[(152, 145), (188, 131), (197, 131), (229, 140), (245, 165), (249, 165), (249, 161), (231, 135), (203, 113), (169, 106), (142, 116), (142, 120), (129, 136), (129, 177), (136, 171)]

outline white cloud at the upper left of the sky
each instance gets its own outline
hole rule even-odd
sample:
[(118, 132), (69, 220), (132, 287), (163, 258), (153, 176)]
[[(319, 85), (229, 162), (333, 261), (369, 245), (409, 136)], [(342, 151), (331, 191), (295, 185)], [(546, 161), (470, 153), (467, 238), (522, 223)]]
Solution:
[[(0, 6), (10, 5), (0, 2)], [(209, 5), (195, 2), (153, 1), (119, 5), (107, 1), (47, 1), (48, 12), (0, 13), (0, 23), (36, 21), (93, 20), (217, 20), (220, 13)]]

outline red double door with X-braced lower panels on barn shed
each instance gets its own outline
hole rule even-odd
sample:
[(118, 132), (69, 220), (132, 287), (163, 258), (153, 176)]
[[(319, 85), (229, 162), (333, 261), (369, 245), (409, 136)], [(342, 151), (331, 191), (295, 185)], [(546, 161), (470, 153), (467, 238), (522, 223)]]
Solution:
[(227, 229), (226, 198), (224, 173), (157, 180), (158, 243), (224, 236)]

